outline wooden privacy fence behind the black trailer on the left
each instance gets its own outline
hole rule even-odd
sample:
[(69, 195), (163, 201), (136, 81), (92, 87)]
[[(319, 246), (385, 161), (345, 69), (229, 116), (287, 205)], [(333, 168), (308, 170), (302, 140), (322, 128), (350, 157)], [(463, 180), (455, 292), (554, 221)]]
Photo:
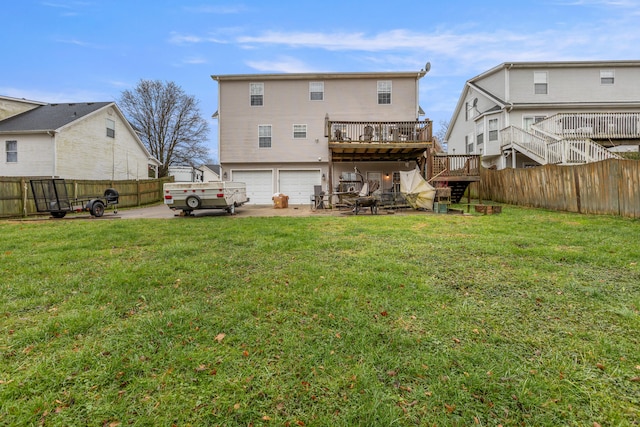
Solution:
[[(35, 179), (35, 178), (34, 178)], [(38, 178), (42, 179), (42, 178)], [(107, 188), (118, 191), (119, 208), (142, 206), (162, 200), (162, 184), (173, 178), (127, 180), (127, 181), (85, 181), (65, 180), (69, 198), (102, 196)], [(0, 177), (0, 218), (37, 215), (30, 178)], [(40, 213), (42, 215), (42, 213)]]

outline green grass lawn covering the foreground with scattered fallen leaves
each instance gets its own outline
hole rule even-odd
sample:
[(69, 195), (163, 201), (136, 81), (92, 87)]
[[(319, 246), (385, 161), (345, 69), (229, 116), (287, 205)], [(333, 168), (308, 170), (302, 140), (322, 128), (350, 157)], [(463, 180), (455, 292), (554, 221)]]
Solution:
[(0, 222), (0, 425), (633, 426), (640, 221)]

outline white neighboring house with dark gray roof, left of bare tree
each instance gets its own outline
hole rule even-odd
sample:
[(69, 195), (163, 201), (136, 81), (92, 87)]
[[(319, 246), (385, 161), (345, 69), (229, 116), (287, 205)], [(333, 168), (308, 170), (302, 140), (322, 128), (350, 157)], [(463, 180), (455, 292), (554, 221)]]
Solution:
[(0, 176), (150, 179), (160, 166), (114, 102), (0, 97), (0, 141)]

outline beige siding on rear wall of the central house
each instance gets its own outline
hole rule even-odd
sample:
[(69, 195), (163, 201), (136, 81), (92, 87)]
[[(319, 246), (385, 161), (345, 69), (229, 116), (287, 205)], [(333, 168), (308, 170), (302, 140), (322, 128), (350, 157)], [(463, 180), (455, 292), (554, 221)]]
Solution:
[[(331, 120), (416, 120), (416, 79), (392, 79), (391, 105), (378, 105), (381, 79), (265, 80), (264, 105), (250, 106), (249, 81), (219, 85), (220, 162), (288, 163), (328, 161), (325, 116)], [(309, 82), (324, 81), (324, 100), (309, 99)], [(256, 76), (252, 82), (261, 82)], [(293, 138), (306, 124), (307, 138)], [(271, 148), (258, 147), (258, 126), (272, 126)]]

